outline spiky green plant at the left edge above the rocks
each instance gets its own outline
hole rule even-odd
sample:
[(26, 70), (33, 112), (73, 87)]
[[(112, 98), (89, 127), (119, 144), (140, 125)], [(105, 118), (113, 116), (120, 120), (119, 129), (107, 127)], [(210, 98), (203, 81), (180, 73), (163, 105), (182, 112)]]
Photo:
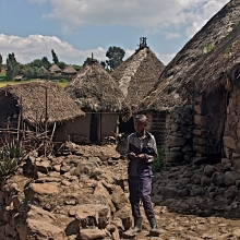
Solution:
[(22, 142), (12, 141), (0, 148), (0, 177), (13, 173), (23, 159)]

